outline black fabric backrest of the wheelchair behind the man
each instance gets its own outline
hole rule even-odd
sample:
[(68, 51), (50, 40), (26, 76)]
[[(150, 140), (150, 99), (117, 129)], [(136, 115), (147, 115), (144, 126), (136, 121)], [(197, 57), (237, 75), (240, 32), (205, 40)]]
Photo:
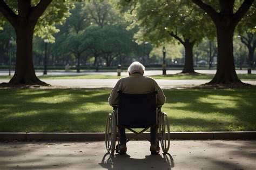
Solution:
[(156, 125), (156, 92), (126, 94), (119, 92), (119, 125), (143, 128)]

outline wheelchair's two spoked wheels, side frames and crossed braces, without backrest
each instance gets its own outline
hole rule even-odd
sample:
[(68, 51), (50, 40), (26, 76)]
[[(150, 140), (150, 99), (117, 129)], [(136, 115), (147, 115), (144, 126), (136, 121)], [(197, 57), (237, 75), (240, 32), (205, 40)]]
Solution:
[[(116, 151), (116, 153), (119, 153), (120, 132), (119, 132), (118, 112), (119, 112), (119, 109), (117, 106), (115, 106), (112, 113), (109, 113), (107, 115), (106, 129), (105, 129), (105, 145), (106, 145), (107, 152), (109, 152), (110, 154), (114, 154), (114, 151)], [(167, 153), (170, 148), (170, 124), (169, 124), (169, 119), (167, 117), (167, 114), (165, 112), (161, 112), (160, 107), (157, 107), (156, 109), (156, 120), (157, 120), (156, 140), (158, 145), (157, 147), (159, 147), (159, 141), (160, 141), (160, 145), (163, 152)], [(135, 133), (131, 138), (127, 139), (126, 142), (134, 139), (137, 136), (140, 136), (145, 140), (149, 140), (141, 134), (146, 130), (148, 130), (150, 126), (144, 128), (140, 132), (136, 132), (132, 130), (132, 128), (130, 127), (125, 127), (125, 128)], [(118, 142), (117, 145), (116, 145), (116, 141)]]

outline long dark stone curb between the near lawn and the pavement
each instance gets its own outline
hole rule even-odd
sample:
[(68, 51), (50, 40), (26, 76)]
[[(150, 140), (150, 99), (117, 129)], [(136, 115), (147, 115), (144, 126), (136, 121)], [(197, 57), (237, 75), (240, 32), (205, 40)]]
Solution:
[[(256, 140), (256, 131), (236, 132), (171, 132), (171, 140)], [(126, 133), (130, 138), (133, 133)], [(143, 133), (150, 138), (150, 133)], [(136, 140), (143, 140), (136, 137)], [(105, 133), (37, 133), (0, 132), (0, 141), (103, 141)]]

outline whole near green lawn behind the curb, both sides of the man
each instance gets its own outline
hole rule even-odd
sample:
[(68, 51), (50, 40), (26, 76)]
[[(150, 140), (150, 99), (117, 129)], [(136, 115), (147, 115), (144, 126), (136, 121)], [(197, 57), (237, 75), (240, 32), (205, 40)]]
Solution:
[[(0, 132), (104, 132), (110, 90), (0, 89)], [(164, 90), (171, 131), (256, 130), (255, 89)]]

